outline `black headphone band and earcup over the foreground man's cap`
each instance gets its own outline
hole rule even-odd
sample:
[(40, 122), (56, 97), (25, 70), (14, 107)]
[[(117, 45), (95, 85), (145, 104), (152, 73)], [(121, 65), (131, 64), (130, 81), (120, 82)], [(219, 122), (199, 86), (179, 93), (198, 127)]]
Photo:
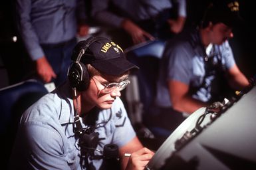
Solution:
[[(84, 91), (88, 88), (90, 83), (90, 75), (86, 68), (86, 65), (80, 62), (82, 56), (85, 55), (87, 48), (93, 42), (99, 41), (100, 39), (106, 39), (104, 37), (90, 37), (86, 41), (80, 41), (76, 44), (74, 48), (74, 52), (72, 54), (72, 59), (74, 60), (69, 68), (68, 68), (68, 80), (70, 82), (70, 86), (75, 88), (78, 91)], [(78, 54), (77, 54), (78, 53)]]

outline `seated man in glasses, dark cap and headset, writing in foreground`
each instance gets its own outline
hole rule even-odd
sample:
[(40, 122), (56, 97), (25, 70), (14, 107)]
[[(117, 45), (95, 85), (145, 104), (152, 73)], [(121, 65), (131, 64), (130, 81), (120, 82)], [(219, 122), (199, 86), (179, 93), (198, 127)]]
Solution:
[(154, 153), (136, 137), (120, 100), (138, 67), (103, 37), (78, 42), (72, 60), (68, 80), (23, 114), (10, 169), (105, 169), (109, 143), (119, 148), (120, 169), (143, 169)]

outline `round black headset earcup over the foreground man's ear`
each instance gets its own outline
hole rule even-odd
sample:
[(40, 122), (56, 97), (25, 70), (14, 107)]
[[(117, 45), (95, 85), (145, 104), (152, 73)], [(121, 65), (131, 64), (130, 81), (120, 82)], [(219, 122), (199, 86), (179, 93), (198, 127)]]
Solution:
[(86, 66), (82, 62), (73, 62), (68, 69), (68, 80), (72, 88), (78, 91), (86, 90), (90, 83)]

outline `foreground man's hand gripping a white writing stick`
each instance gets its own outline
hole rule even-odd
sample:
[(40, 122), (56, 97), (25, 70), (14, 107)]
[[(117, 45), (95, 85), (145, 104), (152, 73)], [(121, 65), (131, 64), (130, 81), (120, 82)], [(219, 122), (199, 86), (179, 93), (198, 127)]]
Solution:
[(148, 161), (153, 157), (154, 152), (150, 149), (144, 147), (130, 155), (126, 170), (143, 170), (144, 167), (148, 164)]

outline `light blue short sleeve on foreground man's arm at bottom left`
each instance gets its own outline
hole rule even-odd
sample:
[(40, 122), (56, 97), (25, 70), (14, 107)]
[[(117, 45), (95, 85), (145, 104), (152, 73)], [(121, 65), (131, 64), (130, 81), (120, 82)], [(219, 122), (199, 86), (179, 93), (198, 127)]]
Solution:
[[(29, 167), (33, 169), (70, 169), (70, 154), (66, 154), (61, 135), (51, 126), (28, 122), (24, 127), (23, 142), (28, 146)], [(71, 162), (69, 162), (71, 163)]]

